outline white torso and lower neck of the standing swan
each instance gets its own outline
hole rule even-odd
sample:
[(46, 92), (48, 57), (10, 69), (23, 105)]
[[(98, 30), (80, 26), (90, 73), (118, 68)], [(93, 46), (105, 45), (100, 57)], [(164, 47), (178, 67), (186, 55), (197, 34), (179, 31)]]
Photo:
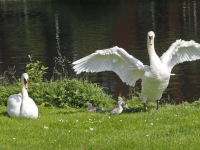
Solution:
[(165, 65), (161, 62), (160, 58), (153, 50), (152, 46), (148, 47), (150, 66), (146, 67), (142, 79), (142, 91), (141, 97), (146, 101), (159, 100), (162, 97), (162, 93), (167, 88), (170, 79), (170, 72)]

